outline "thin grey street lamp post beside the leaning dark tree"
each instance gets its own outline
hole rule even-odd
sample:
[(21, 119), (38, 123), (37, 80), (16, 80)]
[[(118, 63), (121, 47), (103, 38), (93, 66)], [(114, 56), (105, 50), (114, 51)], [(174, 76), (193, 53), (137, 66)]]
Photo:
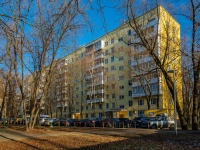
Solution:
[(175, 75), (176, 75), (176, 70), (169, 70), (168, 73), (173, 73), (173, 78), (174, 78), (174, 124), (175, 124), (175, 134), (177, 135), (177, 115), (176, 115), (176, 80), (175, 80)]

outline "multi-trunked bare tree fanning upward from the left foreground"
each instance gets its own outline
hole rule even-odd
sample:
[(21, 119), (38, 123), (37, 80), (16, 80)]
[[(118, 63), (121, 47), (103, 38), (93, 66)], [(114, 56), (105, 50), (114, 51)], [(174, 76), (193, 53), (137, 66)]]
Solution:
[[(24, 103), (25, 119), (25, 71), (31, 74), (31, 121), (26, 124), (29, 130), (34, 127), (51, 83), (52, 72), (56, 66), (55, 59), (66, 50), (70, 35), (80, 27), (84, 6), (82, 7), (78, 0), (37, 0), (9, 2), (4, 4), (4, 8), (6, 14), (0, 14), (1, 29), (10, 42), (7, 53), (14, 64), (21, 100)], [(64, 40), (68, 42), (63, 42)]]

